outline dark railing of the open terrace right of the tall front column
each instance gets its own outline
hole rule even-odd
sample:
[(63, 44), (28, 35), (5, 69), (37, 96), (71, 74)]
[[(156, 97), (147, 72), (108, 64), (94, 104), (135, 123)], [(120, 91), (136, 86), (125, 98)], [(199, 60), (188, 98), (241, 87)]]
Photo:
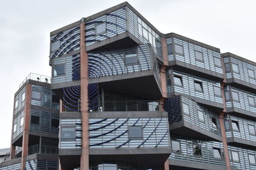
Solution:
[(159, 111), (159, 101), (104, 101), (93, 104), (89, 111)]

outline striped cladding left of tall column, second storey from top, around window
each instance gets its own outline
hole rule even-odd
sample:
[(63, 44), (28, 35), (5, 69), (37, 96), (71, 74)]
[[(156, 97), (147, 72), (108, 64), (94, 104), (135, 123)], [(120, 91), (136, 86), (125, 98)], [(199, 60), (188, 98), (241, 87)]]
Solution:
[(52, 84), (63, 83), (65, 81), (72, 81), (72, 59), (72, 56), (58, 57), (56, 59), (53, 59), (52, 66), (65, 64), (65, 74), (60, 76), (52, 76)]

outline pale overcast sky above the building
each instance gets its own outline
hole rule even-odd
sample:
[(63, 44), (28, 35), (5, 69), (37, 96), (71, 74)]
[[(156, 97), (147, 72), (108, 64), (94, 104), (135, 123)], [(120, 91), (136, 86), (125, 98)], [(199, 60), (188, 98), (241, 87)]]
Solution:
[[(0, 148), (10, 147), (13, 97), (29, 73), (51, 75), (50, 32), (124, 1), (10, 0), (0, 5)], [(256, 62), (256, 1), (128, 1), (163, 33), (175, 32)]]

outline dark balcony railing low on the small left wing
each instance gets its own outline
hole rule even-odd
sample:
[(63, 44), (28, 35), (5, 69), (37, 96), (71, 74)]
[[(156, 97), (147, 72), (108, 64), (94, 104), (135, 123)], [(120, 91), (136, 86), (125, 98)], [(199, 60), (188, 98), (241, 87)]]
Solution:
[(40, 153), (44, 155), (58, 155), (59, 151), (57, 147), (54, 146), (45, 146), (42, 145), (33, 145), (28, 147), (28, 155), (32, 155), (34, 153)]

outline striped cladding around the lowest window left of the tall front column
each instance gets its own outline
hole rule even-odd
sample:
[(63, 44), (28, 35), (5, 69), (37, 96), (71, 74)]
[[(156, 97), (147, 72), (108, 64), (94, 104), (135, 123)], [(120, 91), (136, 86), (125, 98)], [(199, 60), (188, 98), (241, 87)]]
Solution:
[(72, 139), (62, 139), (61, 138), (61, 131), (60, 131), (60, 149), (67, 149), (67, 148), (81, 148), (82, 146), (82, 127), (81, 127), (81, 119), (79, 118), (70, 118), (70, 119), (61, 119), (60, 120), (60, 128), (63, 127), (74, 127), (76, 129), (76, 138)]

